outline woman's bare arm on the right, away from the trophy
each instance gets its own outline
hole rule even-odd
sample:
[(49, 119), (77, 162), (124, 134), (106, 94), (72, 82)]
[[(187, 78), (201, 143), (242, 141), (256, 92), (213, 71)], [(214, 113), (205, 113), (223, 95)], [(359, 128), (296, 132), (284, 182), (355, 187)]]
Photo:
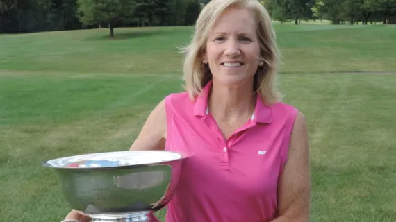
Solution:
[(290, 138), (288, 162), (279, 182), (279, 218), (272, 222), (308, 222), (311, 171), (305, 117), (297, 114)]

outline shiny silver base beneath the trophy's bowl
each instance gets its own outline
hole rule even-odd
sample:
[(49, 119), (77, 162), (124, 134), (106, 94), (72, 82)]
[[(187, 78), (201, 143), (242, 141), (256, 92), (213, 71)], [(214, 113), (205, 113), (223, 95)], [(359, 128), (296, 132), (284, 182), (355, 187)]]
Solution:
[(91, 222), (160, 222), (153, 212), (90, 215)]

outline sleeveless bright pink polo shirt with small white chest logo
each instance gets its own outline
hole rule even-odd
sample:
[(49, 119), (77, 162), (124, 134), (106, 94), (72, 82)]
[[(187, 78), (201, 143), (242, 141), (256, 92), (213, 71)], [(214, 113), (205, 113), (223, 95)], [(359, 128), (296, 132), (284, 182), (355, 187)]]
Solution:
[(257, 97), (251, 119), (224, 139), (208, 113), (204, 87), (196, 101), (187, 92), (170, 94), (166, 150), (194, 155), (187, 159), (167, 222), (266, 222), (277, 216), (277, 183), (286, 163), (297, 109), (265, 105)]

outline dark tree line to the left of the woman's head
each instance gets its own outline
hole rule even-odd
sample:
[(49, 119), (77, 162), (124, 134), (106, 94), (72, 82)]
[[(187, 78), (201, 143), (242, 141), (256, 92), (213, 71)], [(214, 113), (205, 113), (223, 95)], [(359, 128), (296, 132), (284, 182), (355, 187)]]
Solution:
[(190, 26), (199, 0), (0, 0), (0, 33)]

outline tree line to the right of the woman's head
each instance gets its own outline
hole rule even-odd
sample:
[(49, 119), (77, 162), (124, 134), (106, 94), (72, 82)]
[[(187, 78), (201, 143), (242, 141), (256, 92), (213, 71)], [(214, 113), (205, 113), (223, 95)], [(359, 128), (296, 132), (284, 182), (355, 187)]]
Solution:
[(396, 24), (396, 0), (264, 0), (280, 22), (323, 19), (332, 24)]

